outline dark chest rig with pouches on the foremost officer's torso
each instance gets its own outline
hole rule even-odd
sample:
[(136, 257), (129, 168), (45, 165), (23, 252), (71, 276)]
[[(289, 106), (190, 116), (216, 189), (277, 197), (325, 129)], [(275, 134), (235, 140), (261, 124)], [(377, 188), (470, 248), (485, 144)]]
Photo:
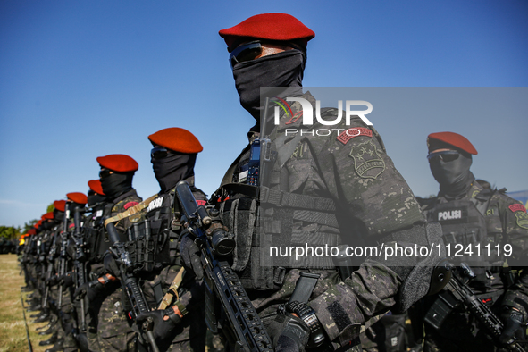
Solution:
[[(237, 246), (232, 269), (239, 273), (245, 289), (279, 289), (286, 268), (335, 268), (331, 257), (302, 256), (296, 260), (295, 255), (270, 256), (271, 246), (284, 251), (294, 246), (330, 247), (340, 244), (333, 200), (294, 193), (298, 189), (279, 189), (281, 172), (284, 171), (280, 161), (289, 159), (298, 141), (299, 138), (293, 138), (289, 143), (281, 140), (281, 148), (273, 146), (274, 158), (266, 166), (270, 169), (266, 177), (270, 187), (259, 187), (252, 178), (256, 170), (256, 157), (252, 154), (257, 148), (250, 145), (231, 165), (228, 171), (232, 175), (231, 182), (222, 185), (212, 196), (212, 199), (220, 201), (218, 206), (222, 222), (235, 236)], [(262, 167), (261, 163), (258, 170), (260, 177)], [(300, 173), (291, 177), (301, 180), (307, 175)]]

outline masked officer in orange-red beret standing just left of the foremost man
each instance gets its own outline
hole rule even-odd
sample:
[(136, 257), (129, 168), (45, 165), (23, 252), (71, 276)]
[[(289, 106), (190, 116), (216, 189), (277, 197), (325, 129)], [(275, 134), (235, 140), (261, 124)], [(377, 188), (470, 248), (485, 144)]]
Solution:
[[(139, 265), (143, 267), (140, 276), (144, 294), (155, 310), (139, 315), (138, 321), (153, 318), (160, 350), (203, 351), (206, 328), (201, 298), (204, 289), (202, 281), (181, 268), (178, 239), (182, 229), (174, 208), (174, 188), (180, 180), (189, 183), (197, 202), (205, 205), (205, 193), (195, 187), (194, 178), (197, 154), (203, 147), (189, 130), (177, 127), (159, 130), (148, 139), (153, 146), (151, 163), (161, 190), (145, 209), (147, 221), (138, 225), (141, 230), (147, 227), (152, 236), (153, 262)], [(135, 237), (138, 241), (145, 240), (141, 234)]]

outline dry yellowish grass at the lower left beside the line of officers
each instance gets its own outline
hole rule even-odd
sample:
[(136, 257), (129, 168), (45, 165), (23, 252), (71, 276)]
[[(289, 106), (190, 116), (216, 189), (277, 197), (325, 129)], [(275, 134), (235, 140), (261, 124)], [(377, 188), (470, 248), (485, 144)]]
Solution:
[[(0, 352), (29, 351), (21, 302), (22, 297), (24, 306), (28, 307), (26, 296), (29, 292), (21, 295), (21, 287), (25, 285), (25, 282), (20, 272), (21, 268), (16, 255), (0, 255)], [(35, 319), (29, 317), (31, 314), (35, 312), (26, 312), (29, 339), (33, 351), (44, 352), (51, 346), (41, 347), (38, 346), (38, 342), (48, 339), (51, 335), (38, 335), (36, 329), (46, 323), (30, 323)]]

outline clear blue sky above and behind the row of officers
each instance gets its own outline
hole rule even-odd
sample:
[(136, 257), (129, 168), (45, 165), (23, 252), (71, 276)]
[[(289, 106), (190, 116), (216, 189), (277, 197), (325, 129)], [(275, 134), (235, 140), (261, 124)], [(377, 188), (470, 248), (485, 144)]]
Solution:
[[(270, 12), (293, 14), (316, 34), (306, 87), (528, 86), (528, 2), (521, 0), (3, 0), (0, 224), (22, 225), (66, 193), (86, 192), (101, 155), (135, 158), (135, 188), (144, 198), (155, 194), (147, 136), (167, 127), (200, 139), (197, 186), (211, 194), (254, 123), (239, 105), (218, 30)], [(441, 130), (474, 143), (478, 178), (524, 190), (526, 92), (465, 113), (439, 100), (373, 124), (417, 196), (438, 190), (425, 138)]]

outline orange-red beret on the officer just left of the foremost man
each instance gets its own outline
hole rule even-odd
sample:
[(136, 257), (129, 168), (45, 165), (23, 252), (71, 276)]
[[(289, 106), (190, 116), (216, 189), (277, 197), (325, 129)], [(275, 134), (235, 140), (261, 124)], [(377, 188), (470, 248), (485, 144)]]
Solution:
[(180, 129), (179, 127), (170, 127), (168, 129), (158, 130), (148, 136), (153, 145), (166, 147), (175, 152), (185, 154), (197, 154), (204, 150), (198, 138), (189, 130)]

